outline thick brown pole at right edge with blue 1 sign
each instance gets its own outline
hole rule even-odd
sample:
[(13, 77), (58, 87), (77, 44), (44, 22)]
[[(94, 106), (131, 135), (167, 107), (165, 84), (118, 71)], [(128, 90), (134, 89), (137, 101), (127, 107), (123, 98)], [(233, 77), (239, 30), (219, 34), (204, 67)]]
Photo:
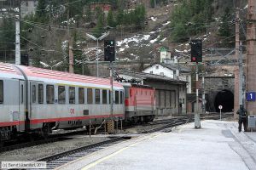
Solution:
[[(247, 8), (247, 60), (246, 60), (246, 88), (247, 92), (256, 92), (256, 3), (255, 0), (248, 0)], [(256, 102), (247, 102), (247, 111), (256, 115)]]

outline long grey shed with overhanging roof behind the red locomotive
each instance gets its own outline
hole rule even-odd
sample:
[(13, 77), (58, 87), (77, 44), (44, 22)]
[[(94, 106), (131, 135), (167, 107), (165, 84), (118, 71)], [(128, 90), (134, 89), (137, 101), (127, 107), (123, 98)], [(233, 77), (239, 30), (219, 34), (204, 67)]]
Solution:
[(118, 78), (125, 82), (148, 85), (156, 90), (156, 109), (158, 116), (185, 115), (187, 83), (161, 75), (145, 72), (117, 71)]

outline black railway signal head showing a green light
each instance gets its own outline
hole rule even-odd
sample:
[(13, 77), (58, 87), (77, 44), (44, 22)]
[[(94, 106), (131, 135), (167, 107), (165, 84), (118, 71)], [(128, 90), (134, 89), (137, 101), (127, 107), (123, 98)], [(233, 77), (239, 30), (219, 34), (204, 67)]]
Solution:
[(114, 44), (114, 40), (104, 41), (104, 61), (113, 62), (115, 60)]

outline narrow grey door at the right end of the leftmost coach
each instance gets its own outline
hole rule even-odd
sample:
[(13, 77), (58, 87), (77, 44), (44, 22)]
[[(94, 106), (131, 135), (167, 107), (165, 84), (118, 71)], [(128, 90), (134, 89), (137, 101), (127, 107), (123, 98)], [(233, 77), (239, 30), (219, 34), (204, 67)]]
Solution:
[(18, 130), (24, 131), (25, 130), (25, 120), (26, 120), (26, 87), (25, 82), (20, 80), (19, 82), (19, 121), (20, 127)]

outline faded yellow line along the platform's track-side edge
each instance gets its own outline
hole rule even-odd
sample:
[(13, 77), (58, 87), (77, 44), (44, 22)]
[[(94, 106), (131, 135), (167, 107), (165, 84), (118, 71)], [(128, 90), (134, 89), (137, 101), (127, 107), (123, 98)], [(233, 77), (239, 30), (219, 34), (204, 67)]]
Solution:
[(134, 143), (134, 144), (130, 144), (130, 145), (126, 146), (125, 148), (122, 148), (122, 149), (120, 149), (120, 150), (117, 150), (117, 151), (113, 152), (113, 153), (110, 154), (109, 156), (102, 157), (101, 159), (90, 163), (89, 165), (83, 167), (82, 170), (88, 170), (88, 169), (90, 169), (91, 167), (95, 167), (97, 164), (101, 163), (102, 161), (108, 160), (109, 158), (118, 155), (120, 152), (122, 152), (122, 151), (124, 151), (124, 150), (127, 150), (128, 148), (130, 148), (130, 147), (132, 147), (132, 146), (135, 146), (136, 144), (142, 143), (144, 140), (154, 139), (154, 138), (160, 136), (161, 134), (162, 134), (162, 133), (160, 133), (160, 134), (154, 134), (154, 136), (152, 136), (152, 137), (150, 137), (150, 138), (148, 138), (148, 139), (143, 139), (143, 140), (138, 141), (138, 142), (136, 142), (136, 143)]

